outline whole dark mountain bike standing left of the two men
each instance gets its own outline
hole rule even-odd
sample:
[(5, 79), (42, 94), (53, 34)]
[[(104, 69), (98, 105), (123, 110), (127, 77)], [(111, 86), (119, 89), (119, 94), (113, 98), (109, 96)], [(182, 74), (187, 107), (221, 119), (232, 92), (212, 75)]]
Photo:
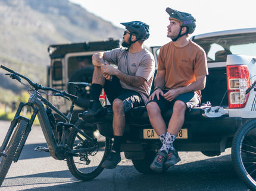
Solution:
[[(43, 87), (12, 69), (3, 65), (0, 67), (9, 72), (5, 75), (9, 75), (11, 79), (15, 79), (27, 87), (30, 94), (27, 103), (21, 102), (19, 104), (7, 135), (2, 142), (0, 150), (0, 186), (11, 163), (18, 161), (27, 136), (33, 128), (32, 125), (36, 116), (38, 116), (48, 145), (48, 148), (37, 147), (35, 148), (36, 151), (49, 152), (51, 157), (56, 160), (67, 160), (68, 169), (79, 180), (92, 180), (98, 176), (103, 170), (101, 164), (110, 152), (111, 139), (104, 136), (88, 136), (84, 128), (86, 122), (83, 120), (77, 120), (75, 124), (71, 123), (73, 109), (78, 98), (77, 93), (85, 88), (88, 83), (69, 82), (69, 85), (74, 85), (76, 88), (76, 94), (72, 95), (65, 91)], [(23, 82), (24, 80), (26, 83)], [(43, 94), (69, 100), (71, 104), (68, 113), (60, 112), (47, 98), (43, 97)], [(29, 118), (21, 116), (24, 107), (29, 107), (33, 112), (31, 112)], [(54, 112), (61, 117), (62, 121), (56, 122)], [(57, 135), (55, 132), (57, 132)]]

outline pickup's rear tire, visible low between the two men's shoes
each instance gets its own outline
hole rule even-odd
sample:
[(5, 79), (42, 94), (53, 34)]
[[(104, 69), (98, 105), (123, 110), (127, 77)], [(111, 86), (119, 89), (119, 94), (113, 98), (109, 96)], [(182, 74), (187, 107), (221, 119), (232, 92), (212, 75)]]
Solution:
[(134, 167), (139, 173), (149, 174), (154, 173), (154, 171), (150, 168), (151, 163), (155, 158), (155, 152), (146, 152), (145, 158), (142, 160), (132, 160)]

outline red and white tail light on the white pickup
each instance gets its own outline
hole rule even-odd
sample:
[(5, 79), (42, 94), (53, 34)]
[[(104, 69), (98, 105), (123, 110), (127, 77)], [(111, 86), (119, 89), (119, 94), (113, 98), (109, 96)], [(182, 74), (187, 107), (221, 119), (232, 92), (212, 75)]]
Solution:
[(245, 91), (250, 84), (249, 71), (246, 65), (227, 66), (227, 96), (229, 98), (229, 108), (245, 107), (249, 96), (249, 94), (245, 94)]

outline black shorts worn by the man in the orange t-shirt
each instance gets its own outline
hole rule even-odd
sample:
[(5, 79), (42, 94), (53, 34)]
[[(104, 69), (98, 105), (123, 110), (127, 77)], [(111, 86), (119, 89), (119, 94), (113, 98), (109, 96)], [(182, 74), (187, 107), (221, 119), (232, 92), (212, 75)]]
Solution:
[[(167, 93), (168, 90), (164, 90), (164, 94)], [(180, 94), (177, 96), (173, 101), (166, 100), (163, 96), (159, 97), (157, 100), (157, 96), (154, 97), (154, 100), (157, 102), (158, 106), (160, 107), (161, 113), (166, 112), (166, 110), (171, 109), (175, 103), (175, 101), (180, 100), (186, 103), (187, 109), (190, 111), (191, 108), (195, 107), (200, 103), (200, 98), (197, 93), (189, 92), (185, 94)], [(149, 102), (151, 102), (149, 101)]]

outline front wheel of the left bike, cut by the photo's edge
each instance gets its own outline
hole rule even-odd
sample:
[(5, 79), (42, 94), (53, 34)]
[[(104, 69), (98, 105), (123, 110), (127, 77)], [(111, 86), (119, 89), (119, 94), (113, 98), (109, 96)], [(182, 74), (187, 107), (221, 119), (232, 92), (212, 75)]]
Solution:
[(18, 146), (20, 145), (21, 139), (23, 138), (24, 132), (27, 127), (26, 120), (20, 120), (18, 122), (13, 136), (8, 142), (7, 147), (5, 148), (5, 156), (2, 156), (2, 160), (0, 163), (0, 186), (5, 179), (5, 176), (11, 166), (11, 163), (14, 160), (15, 154), (17, 153)]

